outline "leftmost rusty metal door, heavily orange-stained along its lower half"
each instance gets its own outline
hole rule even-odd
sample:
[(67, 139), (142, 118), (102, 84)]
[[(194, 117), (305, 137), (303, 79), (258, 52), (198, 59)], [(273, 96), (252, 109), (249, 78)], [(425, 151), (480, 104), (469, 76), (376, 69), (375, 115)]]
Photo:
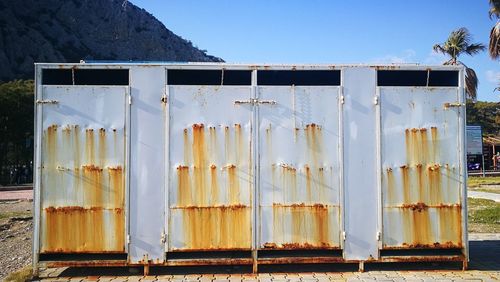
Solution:
[(127, 88), (42, 91), (40, 252), (124, 252)]

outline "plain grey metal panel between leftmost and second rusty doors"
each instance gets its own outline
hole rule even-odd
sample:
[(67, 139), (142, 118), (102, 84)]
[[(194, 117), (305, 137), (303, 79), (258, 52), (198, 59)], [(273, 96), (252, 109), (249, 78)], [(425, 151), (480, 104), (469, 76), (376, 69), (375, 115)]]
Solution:
[(165, 69), (130, 69), (129, 261), (165, 259), (166, 131)]

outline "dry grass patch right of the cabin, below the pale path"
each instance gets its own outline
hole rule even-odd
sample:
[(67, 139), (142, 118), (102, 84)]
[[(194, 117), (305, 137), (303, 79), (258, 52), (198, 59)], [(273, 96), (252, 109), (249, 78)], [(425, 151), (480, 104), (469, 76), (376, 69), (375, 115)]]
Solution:
[(500, 203), (486, 199), (468, 199), (469, 231), (500, 232)]

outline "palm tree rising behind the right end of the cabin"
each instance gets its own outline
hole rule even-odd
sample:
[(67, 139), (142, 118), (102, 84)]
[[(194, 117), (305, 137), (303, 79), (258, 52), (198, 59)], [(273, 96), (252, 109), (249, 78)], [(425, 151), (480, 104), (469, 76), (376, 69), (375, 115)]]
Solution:
[[(498, 0), (494, 0), (498, 1)], [(454, 30), (450, 33), (448, 39), (442, 44), (436, 44), (432, 49), (434, 51), (450, 56), (450, 60), (444, 62), (445, 65), (463, 65), (465, 66), (465, 92), (473, 101), (477, 97), (477, 75), (476, 72), (467, 67), (464, 63), (458, 60), (458, 57), (465, 53), (467, 55), (475, 55), (486, 47), (481, 43), (470, 43), (472, 36), (465, 27)]]

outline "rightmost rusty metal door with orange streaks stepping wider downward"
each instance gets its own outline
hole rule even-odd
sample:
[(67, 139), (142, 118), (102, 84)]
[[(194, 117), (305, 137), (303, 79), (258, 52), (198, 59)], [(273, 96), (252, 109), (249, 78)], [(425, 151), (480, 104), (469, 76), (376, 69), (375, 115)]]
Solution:
[(383, 248), (462, 248), (458, 88), (381, 88)]

